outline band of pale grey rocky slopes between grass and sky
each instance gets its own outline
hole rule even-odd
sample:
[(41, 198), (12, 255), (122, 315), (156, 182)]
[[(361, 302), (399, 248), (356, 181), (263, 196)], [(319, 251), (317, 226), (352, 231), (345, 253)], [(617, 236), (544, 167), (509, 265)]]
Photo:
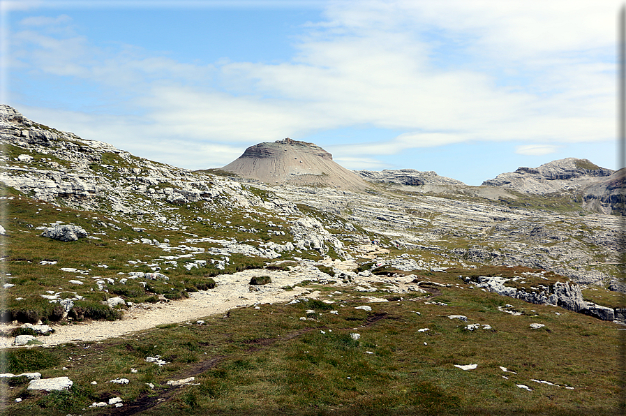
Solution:
[[(623, 183), (611, 170), (586, 160), (568, 158), (535, 170), (520, 168), (471, 187), (435, 172), (415, 170), (361, 171), (357, 176), (336, 165), (320, 147), (285, 139), (248, 148), (223, 168), (244, 177), (246, 172), (248, 177), (260, 172), (256, 179), (269, 182), (251, 187), (235, 177), (147, 161), (103, 142), (41, 126), (6, 105), (0, 110), (5, 145), (0, 179), (36, 200), (165, 230), (185, 230), (186, 222), (193, 221), (237, 231), (233, 225), (214, 221), (234, 211), (252, 221), (248, 230), (254, 223), (274, 224), (277, 217), (287, 220), (283, 228), (269, 231), (276, 233), (277, 242), (252, 246), (230, 240), (211, 242), (220, 246), (213, 248), (215, 253), (223, 253), (216, 262), (223, 263), (228, 253), (278, 258), (294, 250), (350, 258), (355, 248), (380, 240), (387, 248), (421, 250), (460, 262), (542, 268), (586, 285), (609, 285), (617, 275), (623, 246), (620, 217), (588, 211), (570, 194), (526, 197), (532, 190), (545, 194), (588, 188), (598, 190), (598, 198), (603, 198), (602, 189)], [(294, 162), (285, 162), (278, 172), (279, 162), (286, 160)], [(290, 176), (302, 175), (325, 177), (327, 184), (335, 186), (295, 186), (299, 182)], [(370, 180), (370, 185), (363, 185), (366, 182), (359, 177)], [(505, 190), (498, 191), (501, 188)], [(307, 214), (296, 204), (327, 215)], [(98, 228), (105, 232), (107, 223)], [(168, 251), (193, 251), (145, 240), (134, 239)], [(352, 251), (344, 250), (346, 245)]]

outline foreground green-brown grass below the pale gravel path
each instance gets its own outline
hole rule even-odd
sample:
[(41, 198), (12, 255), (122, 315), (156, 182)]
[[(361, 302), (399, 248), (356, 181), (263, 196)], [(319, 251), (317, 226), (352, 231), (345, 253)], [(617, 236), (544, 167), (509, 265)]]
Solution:
[[(99, 415), (105, 410), (82, 408), (113, 396), (121, 396), (125, 406), (143, 403), (146, 415), (608, 415), (618, 403), (619, 340), (609, 322), (508, 299), (528, 311), (512, 316), (497, 310), (498, 295), (452, 287), (440, 295), (448, 306), (405, 300), (371, 304), (373, 311), (366, 312), (354, 309), (361, 304), (358, 295), (350, 290), (336, 295), (345, 305), (334, 305), (338, 315), (313, 300), (261, 305), (203, 318), (204, 325), (168, 324), (98, 343), (9, 350), (4, 359), (15, 373), (64, 375), (75, 387), (41, 394), (19, 385), (8, 390), (7, 411)], [(315, 309), (316, 318), (299, 320), (304, 309)], [(459, 313), (469, 322), (447, 318)], [(464, 329), (474, 322), (493, 329)], [(533, 322), (546, 329), (530, 329)], [(430, 330), (418, 332), (424, 327)], [(156, 355), (169, 364), (145, 362)], [(454, 367), (471, 363), (477, 369)], [(199, 384), (166, 385), (188, 376)], [(107, 383), (119, 377), (131, 382)], [(14, 403), (17, 396), (23, 401)]]

